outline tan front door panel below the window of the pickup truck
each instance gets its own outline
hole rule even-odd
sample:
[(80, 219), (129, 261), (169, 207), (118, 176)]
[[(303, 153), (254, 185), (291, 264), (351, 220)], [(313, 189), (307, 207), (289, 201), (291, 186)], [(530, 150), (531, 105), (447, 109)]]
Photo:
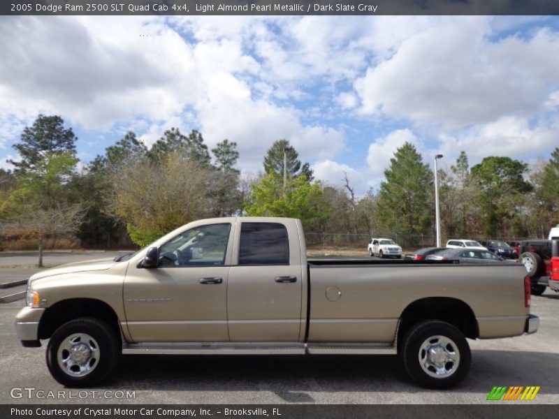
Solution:
[[(132, 271), (132, 272), (130, 272)], [(129, 267), (124, 309), (134, 341), (228, 341), (229, 267)], [(222, 278), (201, 284), (201, 279)]]

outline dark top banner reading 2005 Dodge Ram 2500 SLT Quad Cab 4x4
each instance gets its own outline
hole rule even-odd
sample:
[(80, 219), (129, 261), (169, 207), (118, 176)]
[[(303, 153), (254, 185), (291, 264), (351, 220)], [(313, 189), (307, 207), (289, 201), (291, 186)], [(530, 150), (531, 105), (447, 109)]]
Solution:
[(0, 15), (559, 15), (559, 1), (4, 0)]

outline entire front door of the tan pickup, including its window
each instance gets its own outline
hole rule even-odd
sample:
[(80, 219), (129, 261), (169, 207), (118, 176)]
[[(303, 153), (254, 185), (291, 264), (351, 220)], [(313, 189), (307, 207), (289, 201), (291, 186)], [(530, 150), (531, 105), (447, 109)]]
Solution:
[(160, 247), (158, 267), (129, 266), (124, 309), (134, 341), (229, 340), (230, 231), (231, 223), (191, 228)]

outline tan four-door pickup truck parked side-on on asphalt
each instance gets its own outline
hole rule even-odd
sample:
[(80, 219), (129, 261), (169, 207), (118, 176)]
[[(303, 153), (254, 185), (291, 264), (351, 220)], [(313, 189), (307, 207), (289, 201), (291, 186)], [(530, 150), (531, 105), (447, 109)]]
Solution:
[(17, 335), (50, 338), (48, 368), (68, 387), (130, 353), (398, 353), (417, 383), (450, 388), (470, 367), (465, 338), (538, 328), (520, 265), (306, 254), (296, 219), (196, 221), (120, 259), (35, 274)]

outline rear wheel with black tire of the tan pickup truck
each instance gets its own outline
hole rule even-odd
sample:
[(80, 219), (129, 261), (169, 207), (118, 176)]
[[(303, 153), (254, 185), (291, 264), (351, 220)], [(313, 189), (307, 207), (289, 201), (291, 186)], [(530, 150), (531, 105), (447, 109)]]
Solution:
[[(442, 358), (430, 360), (430, 351), (433, 351), (434, 357)], [(424, 388), (439, 390), (460, 383), (472, 361), (470, 346), (463, 333), (455, 326), (437, 320), (418, 323), (408, 330), (400, 355), (407, 373), (416, 383)], [(447, 355), (453, 356), (455, 360), (449, 360)], [(422, 357), (425, 362), (421, 362)], [(433, 365), (435, 362), (439, 365)]]

